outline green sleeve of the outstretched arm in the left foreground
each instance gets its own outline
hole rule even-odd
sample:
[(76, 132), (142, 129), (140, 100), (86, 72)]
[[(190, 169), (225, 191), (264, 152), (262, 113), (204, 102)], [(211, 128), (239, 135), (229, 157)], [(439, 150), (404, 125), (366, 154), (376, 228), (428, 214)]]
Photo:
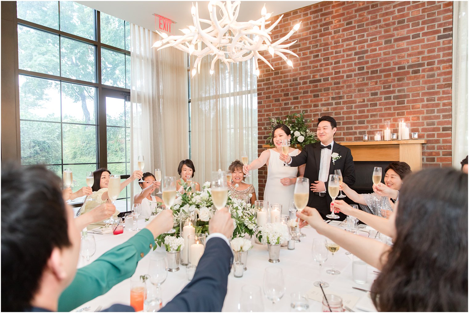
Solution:
[(76, 271), (72, 283), (59, 298), (59, 312), (68, 312), (129, 278), (155, 244), (151, 231), (143, 229), (120, 246), (101, 255), (96, 261)]

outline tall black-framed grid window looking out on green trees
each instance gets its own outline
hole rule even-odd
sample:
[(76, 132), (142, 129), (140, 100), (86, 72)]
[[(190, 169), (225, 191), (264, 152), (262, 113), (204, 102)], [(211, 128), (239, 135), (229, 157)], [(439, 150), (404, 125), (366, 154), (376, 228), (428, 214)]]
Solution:
[(72, 168), (74, 190), (98, 167), (127, 178), (129, 22), (72, 1), (16, 8), (22, 164)]

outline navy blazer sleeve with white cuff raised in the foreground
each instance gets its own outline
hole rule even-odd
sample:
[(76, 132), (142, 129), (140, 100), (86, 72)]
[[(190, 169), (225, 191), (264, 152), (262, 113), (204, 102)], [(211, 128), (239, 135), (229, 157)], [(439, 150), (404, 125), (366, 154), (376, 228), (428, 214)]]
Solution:
[(222, 238), (210, 238), (192, 281), (159, 312), (221, 312), (233, 253)]

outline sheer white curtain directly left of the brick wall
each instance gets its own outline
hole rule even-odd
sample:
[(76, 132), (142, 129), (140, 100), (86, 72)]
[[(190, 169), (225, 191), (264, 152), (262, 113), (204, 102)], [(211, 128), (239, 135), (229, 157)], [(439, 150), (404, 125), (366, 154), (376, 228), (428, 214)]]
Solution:
[[(194, 60), (191, 60), (191, 63)], [(191, 79), (191, 157), (198, 182), (211, 180), (212, 171), (227, 171), (241, 152), (257, 158), (257, 79), (252, 60), (231, 65), (205, 57), (200, 73)], [(257, 170), (247, 183), (257, 194)]]

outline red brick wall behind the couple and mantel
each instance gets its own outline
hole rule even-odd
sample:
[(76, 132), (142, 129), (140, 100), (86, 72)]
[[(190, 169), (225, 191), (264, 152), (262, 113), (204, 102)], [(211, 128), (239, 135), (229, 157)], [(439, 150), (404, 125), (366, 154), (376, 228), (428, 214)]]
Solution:
[[(259, 61), (259, 154), (269, 117), (293, 107), (313, 127), (320, 115), (333, 116), (339, 142), (361, 141), (387, 119), (397, 132), (403, 117), (427, 140), (424, 166), (451, 166), (452, 2), (319, 2), (286, 13), (272, 41), (300, 21), (290, 37), (298, 40), (290, 47), (299, 56), (293, 69), (278, 56), (265, 56), (274, 71)], [(265, 179), (263, 167), (260, 197)]]

